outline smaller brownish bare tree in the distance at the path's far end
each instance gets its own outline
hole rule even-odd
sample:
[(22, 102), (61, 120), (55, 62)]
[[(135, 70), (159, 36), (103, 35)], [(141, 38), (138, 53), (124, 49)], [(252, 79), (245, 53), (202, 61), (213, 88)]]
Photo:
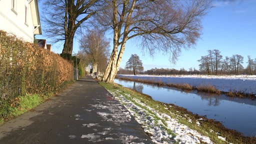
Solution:
[(79, 48), (87, 54), (87, 58), (91, 61), (92, 72), (98, 72), (98, 64), (106, 63), (106, 57), (109, 56), (109, 41), (104, 36), (104, 31), (102, 30), (92, 29), (87, 31), (79, 40)]

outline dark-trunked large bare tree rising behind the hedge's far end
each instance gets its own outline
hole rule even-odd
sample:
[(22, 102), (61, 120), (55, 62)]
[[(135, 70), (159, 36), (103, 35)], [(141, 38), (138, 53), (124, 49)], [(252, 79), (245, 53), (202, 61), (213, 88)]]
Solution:
[[(43, 0), (41, 0), (43, 1)], [(69, 59), (73, 50), (73, 38), (78, 27), (95, 14), (103, 0), (44, 0), (43, 21), (46, 34), (53, 42), (64, 40), (61, 56)]]

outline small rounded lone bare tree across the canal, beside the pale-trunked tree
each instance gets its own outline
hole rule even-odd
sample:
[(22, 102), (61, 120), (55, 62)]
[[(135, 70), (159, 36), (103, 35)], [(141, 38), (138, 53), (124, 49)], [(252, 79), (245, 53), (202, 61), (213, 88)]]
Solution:
[(130, 58), (126, 62), (125, 68), (132, 69), (133, 74), (136, 75), (136, 71), (143, 71), (142, 61), (137, 54), (131, 54)]

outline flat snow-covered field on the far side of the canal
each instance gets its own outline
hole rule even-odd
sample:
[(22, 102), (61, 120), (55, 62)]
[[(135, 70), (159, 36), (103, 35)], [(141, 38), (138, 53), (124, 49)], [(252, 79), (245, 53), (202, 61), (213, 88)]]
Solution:
[(148, 79), (162, 81), (164, 83), (181, 84), (188, 83), (191, 86), (212, 85), (224, 92), (243, 92), (256, 94), (256, 75), (124, 75), (135, 79)]

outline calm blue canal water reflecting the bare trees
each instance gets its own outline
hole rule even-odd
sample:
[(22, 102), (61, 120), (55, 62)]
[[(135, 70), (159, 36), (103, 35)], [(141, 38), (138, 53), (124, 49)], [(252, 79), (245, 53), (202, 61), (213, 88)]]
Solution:
[(115, 83), (150, 95), (154, 100), (173, 103), (188, 111), (220, 121), (246, 136), (256, 136), (256, 100), (205, 92), (185, 92), (140, 82), (115, 79)]

